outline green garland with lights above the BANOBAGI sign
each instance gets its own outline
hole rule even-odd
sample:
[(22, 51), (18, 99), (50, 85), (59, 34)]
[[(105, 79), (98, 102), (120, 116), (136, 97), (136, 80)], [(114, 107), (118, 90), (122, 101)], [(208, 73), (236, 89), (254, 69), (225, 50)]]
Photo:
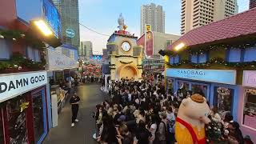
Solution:
[(181, 66), (182, 64), (194, 66), (194, 68), (205, 68), (206, 66), (218, 64), (222, 66), (234, 67), (236, 69), (247, 67), (247, 66), (250, 66), (252, 69), (256, 69), (255, 61), (254, 62), (226, 62), (223, 58), (212, 58), (210, 59), (210, 61), (204, 62), (204, 63), (193, 63), (193, 62), (190, 62), (189, 60), (182, 60), (179, 63), (169, 64), (169, 65), (173, 67), (178, 67), (178, 66)]

